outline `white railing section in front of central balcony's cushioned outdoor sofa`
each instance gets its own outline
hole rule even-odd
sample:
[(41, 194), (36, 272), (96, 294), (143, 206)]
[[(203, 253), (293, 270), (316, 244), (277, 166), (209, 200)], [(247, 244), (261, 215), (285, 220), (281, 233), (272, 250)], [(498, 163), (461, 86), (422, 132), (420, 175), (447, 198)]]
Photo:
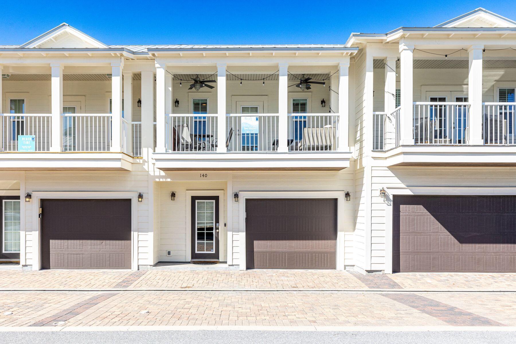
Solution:
[(338, 151), (339, 116), (332, 114), (288, 114), (289, 151)]

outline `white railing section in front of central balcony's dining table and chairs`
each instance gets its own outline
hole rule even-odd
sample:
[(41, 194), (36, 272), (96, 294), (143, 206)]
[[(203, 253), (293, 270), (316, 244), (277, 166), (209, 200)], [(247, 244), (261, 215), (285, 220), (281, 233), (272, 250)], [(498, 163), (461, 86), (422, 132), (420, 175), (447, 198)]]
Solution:
[(214, 152), (218, 137), (216, 114), (169, 114), (165, 119), (167, 152)]

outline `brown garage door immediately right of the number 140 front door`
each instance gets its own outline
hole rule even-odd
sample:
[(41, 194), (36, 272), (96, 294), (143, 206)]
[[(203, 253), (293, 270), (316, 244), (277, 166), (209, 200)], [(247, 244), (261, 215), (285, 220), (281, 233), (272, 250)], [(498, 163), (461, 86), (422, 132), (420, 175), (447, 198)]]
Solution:
[(246, 200), (248, 269), (335, 269), (337, 200)]

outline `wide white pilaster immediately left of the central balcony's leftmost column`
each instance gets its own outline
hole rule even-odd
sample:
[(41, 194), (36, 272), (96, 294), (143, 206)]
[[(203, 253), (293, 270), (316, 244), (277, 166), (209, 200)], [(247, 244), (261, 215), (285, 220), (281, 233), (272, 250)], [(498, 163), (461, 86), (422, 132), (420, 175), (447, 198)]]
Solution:
[(154, 72), (141, 72), (141, 147), (144, 158), (154, 147)]

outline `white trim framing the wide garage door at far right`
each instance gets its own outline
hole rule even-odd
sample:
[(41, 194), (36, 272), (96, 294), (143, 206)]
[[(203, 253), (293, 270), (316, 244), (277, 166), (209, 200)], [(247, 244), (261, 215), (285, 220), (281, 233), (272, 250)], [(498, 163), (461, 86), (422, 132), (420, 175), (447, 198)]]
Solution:
[(455, 187), (455, 186), (384, 186), (385, 198), (385, 273), (392, 273), (393, 258), (393, 195), (489, 196), (516, 195), (516, 187)]

